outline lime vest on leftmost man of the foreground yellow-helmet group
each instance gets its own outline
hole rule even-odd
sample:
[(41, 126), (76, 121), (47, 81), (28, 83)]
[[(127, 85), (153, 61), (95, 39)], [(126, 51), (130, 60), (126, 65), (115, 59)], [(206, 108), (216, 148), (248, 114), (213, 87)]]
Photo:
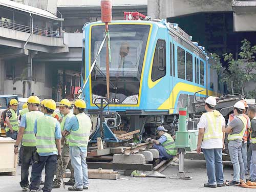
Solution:
[(44, 113), (39, 111), (31, 111), (26, 113), (26, 129), (22, 139), (23, 146), (36, 146), (34, 124), (35, 120), (41, 116), (44, 116)]

